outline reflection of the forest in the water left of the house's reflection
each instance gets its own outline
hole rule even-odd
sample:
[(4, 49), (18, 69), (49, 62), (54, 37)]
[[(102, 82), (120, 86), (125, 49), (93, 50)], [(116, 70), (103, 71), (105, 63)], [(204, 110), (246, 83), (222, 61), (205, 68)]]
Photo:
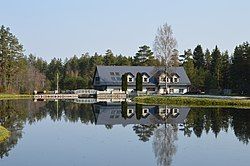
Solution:
[(24, 124), (36, 123), (48, 115), (52, 120), (69, 120), (82, 123), (93, 123), (94, 115), (91, 105), (75, 104), (70, 102), (36, 102), (31, 100), (4, 100), (0, 101), (0, 125), (11, 131), (10, 138), (0, 143), (0, 158), (8, 156), (22, 138)]

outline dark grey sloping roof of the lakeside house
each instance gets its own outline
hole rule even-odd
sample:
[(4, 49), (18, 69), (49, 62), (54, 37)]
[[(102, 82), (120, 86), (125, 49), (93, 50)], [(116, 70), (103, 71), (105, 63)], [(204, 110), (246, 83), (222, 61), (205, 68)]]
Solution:
[[(164, 67), (154, 67), (154, 66), (97, 66), (96, 72), (98, 72), (100, 77), (100, 84), (98, 85), (121, 85), (121, 80), (114, 80), (110, 75), (110, 72), (118, 72), (120, 77), (125, 73), (131, 73), (134, 76), (138, 72), (147, 73), (149, 77), (157, 75), (159, 71), (164, 71)], [(175, 85), (190, 85), (190, 80), (183, 67), (170, 67), (169, 71), (175, 73), (180, 77), (180, 82)]]

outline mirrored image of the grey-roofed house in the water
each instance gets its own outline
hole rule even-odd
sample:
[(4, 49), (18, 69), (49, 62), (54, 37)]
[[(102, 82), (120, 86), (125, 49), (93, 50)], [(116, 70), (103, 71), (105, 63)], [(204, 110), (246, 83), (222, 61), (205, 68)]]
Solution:
[[(190, 108), (167, 106), (141, 106), (136, 110), (136, 104), (128, 103), (126, 109), (121, 103), (96, 103), (93, 105), (95, 123), (97, 125), (129, 125), (129, 124), (180, 124), (184, 123)], [(125, 112), (124, 112), (125, 111)], [(141, 112), (138, 115), (138, 112)]]

